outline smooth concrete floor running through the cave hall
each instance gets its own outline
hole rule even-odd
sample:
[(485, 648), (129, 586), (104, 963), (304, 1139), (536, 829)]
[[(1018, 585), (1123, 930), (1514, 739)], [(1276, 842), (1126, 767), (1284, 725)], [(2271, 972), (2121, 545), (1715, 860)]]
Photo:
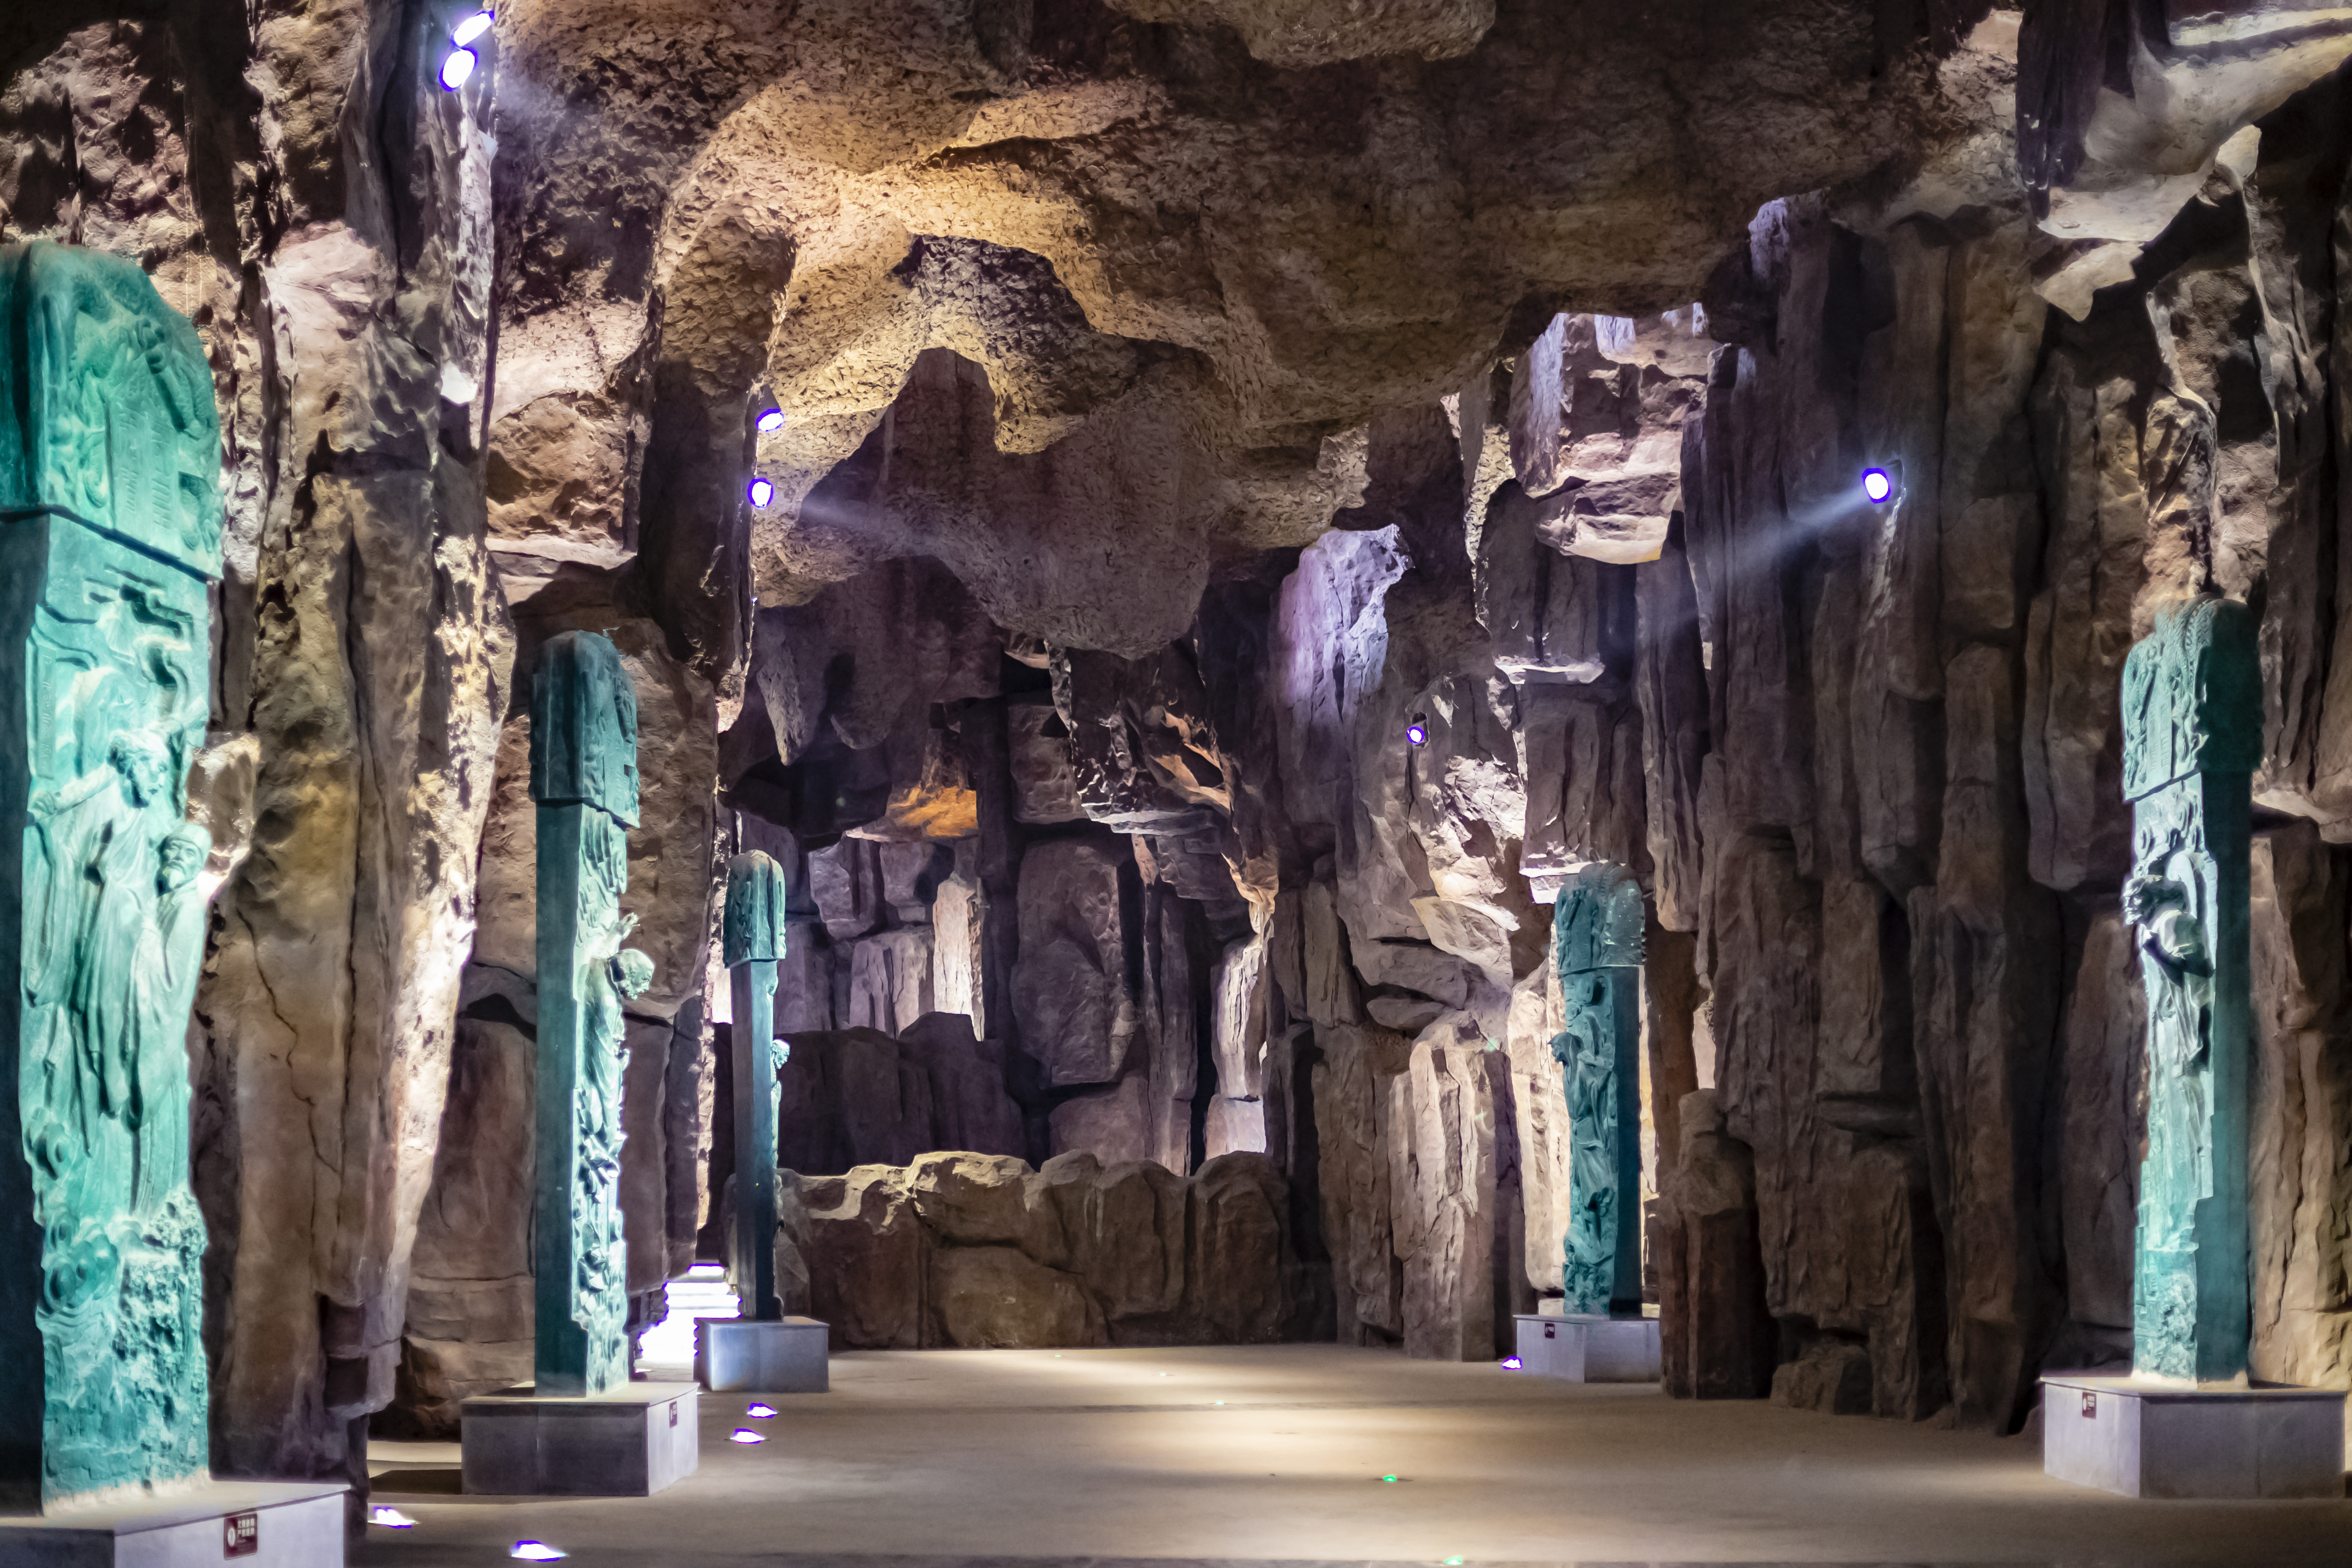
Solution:
[(866, 1352), (750, 1403), (703, 1394), (701, 1469), (656, 1497), (463, 1497), (454, 1443), (372, 1443), (419, 1523), (353, 1563), (2352, 1566), (2352, 1502), (2133, 1502), (2025, 1439), (1334, 1345)]

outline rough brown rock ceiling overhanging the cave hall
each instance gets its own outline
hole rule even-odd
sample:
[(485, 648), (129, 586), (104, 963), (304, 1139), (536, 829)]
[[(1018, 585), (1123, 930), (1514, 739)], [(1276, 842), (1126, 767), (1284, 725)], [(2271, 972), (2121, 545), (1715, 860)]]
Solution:
[(2002, 40), (1938, 68), (1985, 7), (1898, 9), (515, 5), (494, 449), (614, 449), (649, 350), (656, 465), (677, 421), (779, 482), (762, 604), (936, 555), (1007, 628), (1141, 654), (1362, 498), (1374, 414), (1557, 310), (1700, 299), (1795, 190), (2013, 190), (1971, 153)]

